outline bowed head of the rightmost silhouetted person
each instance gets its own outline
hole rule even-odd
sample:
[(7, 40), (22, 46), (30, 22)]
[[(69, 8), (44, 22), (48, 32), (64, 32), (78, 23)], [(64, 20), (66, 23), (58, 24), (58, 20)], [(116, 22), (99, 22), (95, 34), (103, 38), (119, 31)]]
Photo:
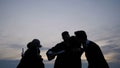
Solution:
[(75, 31), (74, 34), (75, 34), (76, 38), (78, 40), (80, 40), (81, 42), (85, 42), (87, 40), (87, 34), (83, 30)]

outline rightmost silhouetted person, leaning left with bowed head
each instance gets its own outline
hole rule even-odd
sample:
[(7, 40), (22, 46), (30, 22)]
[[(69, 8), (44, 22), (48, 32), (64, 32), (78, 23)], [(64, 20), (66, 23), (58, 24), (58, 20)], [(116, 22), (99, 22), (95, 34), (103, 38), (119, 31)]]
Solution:
[(87, 39), (85, 31), (76, 31), (75, 35), (85, 50), (88, 68), (109, 68), (100, 47), (95, 42)]

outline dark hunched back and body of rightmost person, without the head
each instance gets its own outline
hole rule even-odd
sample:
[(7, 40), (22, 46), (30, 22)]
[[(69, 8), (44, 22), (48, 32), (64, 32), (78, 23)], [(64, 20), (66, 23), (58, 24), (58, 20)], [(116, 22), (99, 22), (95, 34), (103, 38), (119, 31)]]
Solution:
[(100, 47), (96, 43), (89, 41), (85, 55), (89, 63), (88, 68), (109, 68)]

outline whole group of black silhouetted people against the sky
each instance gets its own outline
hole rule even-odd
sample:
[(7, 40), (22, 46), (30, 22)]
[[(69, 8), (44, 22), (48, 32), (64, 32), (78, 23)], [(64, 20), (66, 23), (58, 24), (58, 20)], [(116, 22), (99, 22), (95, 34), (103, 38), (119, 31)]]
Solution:
[[(84, 30), (75, 31), (74, 34), (70, 36), (68, 31), (62, 32), (63, 41), (46, 52), (49, 61), (55, 59), (54, 68), (82, 68), (81, 56), (84, 52), (88, 68), (109, 68), (100, 47), (87, 39)], [(38, 39), (29, 42), (17, 68), (45, 68), (40, 47)]]

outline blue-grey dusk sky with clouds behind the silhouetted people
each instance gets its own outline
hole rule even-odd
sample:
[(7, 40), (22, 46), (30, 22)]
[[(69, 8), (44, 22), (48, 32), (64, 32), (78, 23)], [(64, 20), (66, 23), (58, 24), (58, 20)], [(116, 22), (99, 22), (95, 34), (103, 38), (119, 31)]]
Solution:
[[(0, 68), (16, 68), (21, 49), (37, 38), (46, 68), (46, 51), (62, 41), (61, 33), (85, 30), (110, 68), (120, 68), (120, 0), (0, 0)], [(83, 68), (87, 68), (82, 56)]]

